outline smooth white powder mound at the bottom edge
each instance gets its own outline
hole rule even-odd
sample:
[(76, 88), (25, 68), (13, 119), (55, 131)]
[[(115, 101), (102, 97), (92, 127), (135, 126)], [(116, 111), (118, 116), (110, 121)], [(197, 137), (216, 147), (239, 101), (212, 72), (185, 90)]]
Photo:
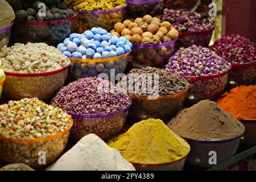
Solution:
[(89, 134), (60, 157), (48, 171), (134, 171), (114, 148), (109, 147), (95, 134)]

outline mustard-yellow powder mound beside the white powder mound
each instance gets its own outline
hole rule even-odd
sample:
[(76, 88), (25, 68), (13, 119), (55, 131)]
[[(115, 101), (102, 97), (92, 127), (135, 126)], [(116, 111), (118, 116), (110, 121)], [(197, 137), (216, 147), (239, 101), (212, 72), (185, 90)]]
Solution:
[(133, 163), (168, 163), (186, 156), (189, 144), (171, 131), (160, 119), (135, 123), (126, 133), (109, 140), (123, 158)]

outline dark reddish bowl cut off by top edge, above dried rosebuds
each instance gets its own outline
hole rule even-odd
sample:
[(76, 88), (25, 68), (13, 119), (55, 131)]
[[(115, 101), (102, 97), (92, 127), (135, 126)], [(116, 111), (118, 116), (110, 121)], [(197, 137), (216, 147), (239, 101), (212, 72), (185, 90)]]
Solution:
[(164, 8), (168, 9), (187, 9), (195, 11), (200, 5), (200, 0), (164, 0)]

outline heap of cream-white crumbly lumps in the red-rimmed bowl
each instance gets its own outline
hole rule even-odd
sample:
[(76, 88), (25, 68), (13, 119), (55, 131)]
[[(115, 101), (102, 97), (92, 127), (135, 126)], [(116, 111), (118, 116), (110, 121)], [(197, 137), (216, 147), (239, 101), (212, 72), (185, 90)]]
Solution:
[(70, 63), (59, 49), (45, 43), (16, 43), (0, 51), (0, 67), (6, 72), (50, 72), (65, 68)]

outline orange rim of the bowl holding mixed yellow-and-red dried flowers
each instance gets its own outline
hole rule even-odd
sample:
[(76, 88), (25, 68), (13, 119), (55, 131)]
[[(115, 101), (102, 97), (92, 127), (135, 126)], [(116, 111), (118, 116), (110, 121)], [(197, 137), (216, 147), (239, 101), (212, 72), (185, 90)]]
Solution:
[(57, 133), (55, 135), (50, 135), (48, 137), (39, 137), (39, 138), (7, 138), (7, 137), (0, 137), (0, 141), (5, 141), (5, 142), (13, 142), (13, 143), (40, 143), (40, 142), (46, 142), (52, 139), (59, 138), (71, 130), (71, 127), (73, 126), (73, 119), (71, 118), (71, 123), (68, 126), (68, 129), (61, 132)]

